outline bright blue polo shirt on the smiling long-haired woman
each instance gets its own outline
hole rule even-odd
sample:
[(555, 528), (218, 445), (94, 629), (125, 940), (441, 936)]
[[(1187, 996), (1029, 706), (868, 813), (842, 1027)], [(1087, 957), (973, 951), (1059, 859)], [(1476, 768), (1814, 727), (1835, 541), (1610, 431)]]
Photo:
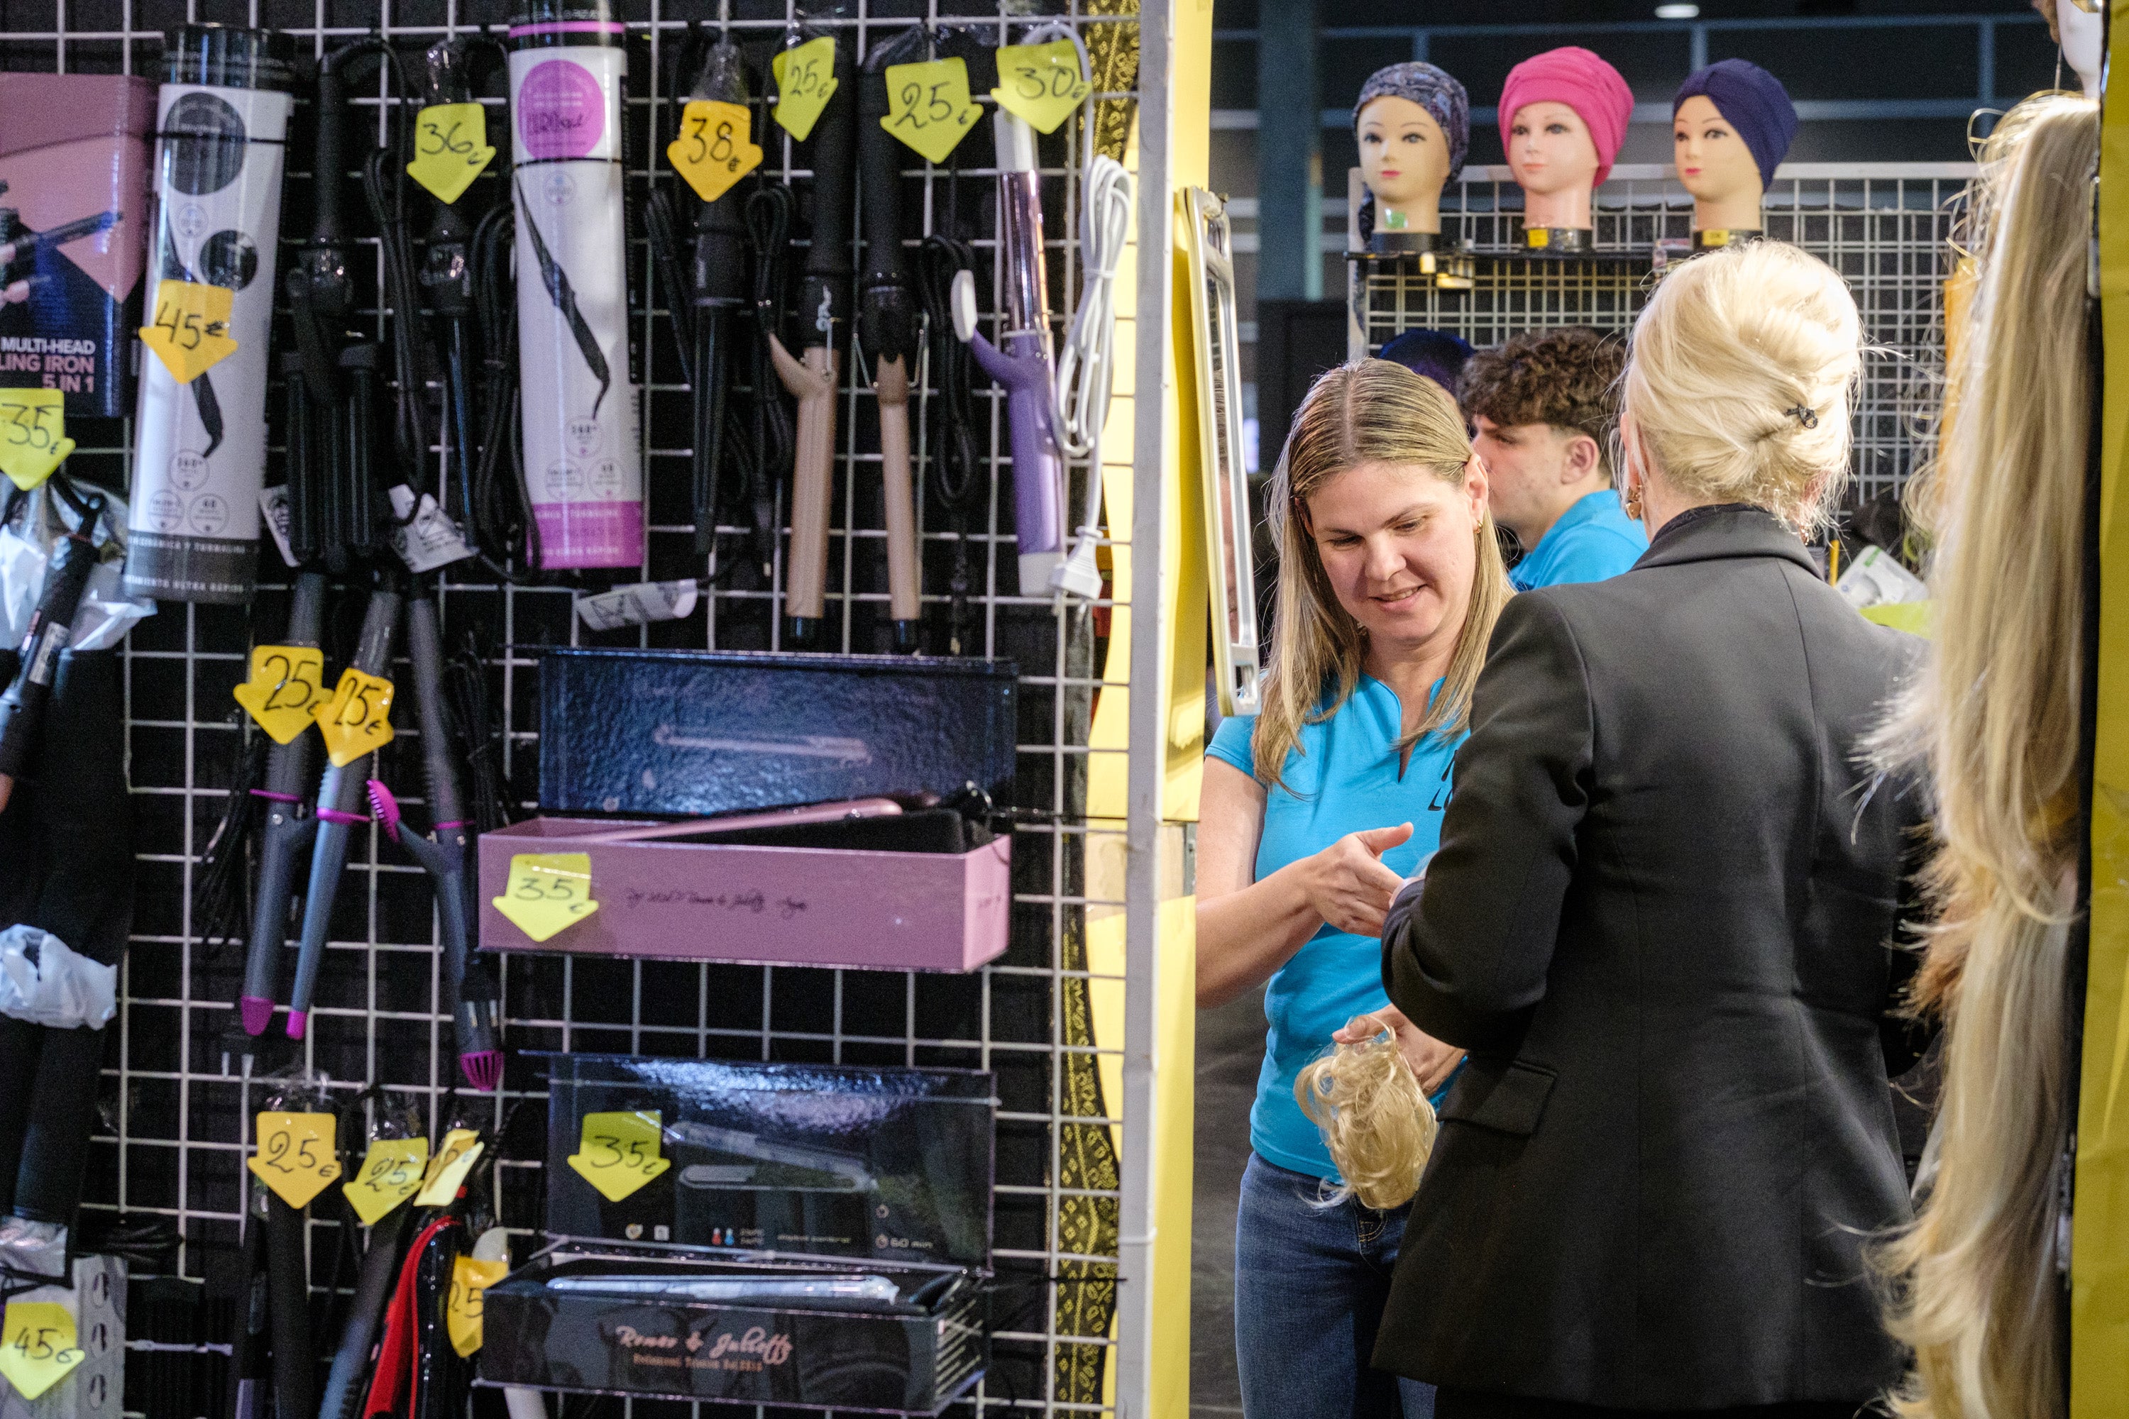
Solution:
[[(1439, 689), (1439, 685), (1437, 685)], [(1403, 706), (1397, 691), (1367, 674), (1337, 715), (1301, 725), (1301, 747), (1286, 755), (1284, 787), (1265, 800), (1265, 834), (1256, 845), (1256, 881), (1290, 862), (1331, 847), (1348, 832), (1412, 823), (1403, 847), (1382, 855), (1399, 877), (1412, 877), (1441, 845), (1441, 808), (1450, 802), (1450, 770), (1465, 734), (1429, 734), (1397, 772)], [(1256, 715), (1222, 719), (1207, 755), (1256, 772), (1250, 736)], [(1328, 787), (1324, 787), (1328, 785)], [(1331, 1034), (1354, 1015), (1390, 1004), (1382, 991), (1382, 942), (1324, 923), (1273, 972), (1265, 987), (1265, 1068), (1250, 1108), (1250, 1147), (1271, 1164), (1318, 1179), (1337, 1179), (1322, 1134), (1294, 1102), (1294, 1076), (1331, 1047)]]

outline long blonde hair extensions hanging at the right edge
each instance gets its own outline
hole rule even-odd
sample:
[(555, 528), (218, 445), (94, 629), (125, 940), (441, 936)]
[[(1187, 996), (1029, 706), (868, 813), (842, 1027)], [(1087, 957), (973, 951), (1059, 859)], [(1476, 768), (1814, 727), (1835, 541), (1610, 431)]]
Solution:
[(1880, 1255), (1914, 1347), (1914, 1419), (2063, 1413), (2065, 957), (2082, 742), (2086, 240), (2099, 108), (2044, 94), (1982, 147), (1980, 287), (1950, 368), (1944, 455), (1910, 498), (1933, 540), (1927, 666), (1878, 738), (1925, 768), (1935, 855), (1916, 1004), (1944, 1083), (1914, 1225)]

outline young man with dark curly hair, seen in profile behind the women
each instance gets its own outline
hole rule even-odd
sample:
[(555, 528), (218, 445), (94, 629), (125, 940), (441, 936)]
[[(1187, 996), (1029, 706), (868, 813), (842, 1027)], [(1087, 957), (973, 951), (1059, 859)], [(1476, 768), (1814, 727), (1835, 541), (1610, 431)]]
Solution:
[(1533, 330), (1482, 349), (1458, 400), (1486, 464), (1492, 517), (1524, 553), (1518, 589), (1618, 577), (1648, 551), (1648, 532), (1612, 491), (1612, 428), (1627, 349), (1595, 330)]

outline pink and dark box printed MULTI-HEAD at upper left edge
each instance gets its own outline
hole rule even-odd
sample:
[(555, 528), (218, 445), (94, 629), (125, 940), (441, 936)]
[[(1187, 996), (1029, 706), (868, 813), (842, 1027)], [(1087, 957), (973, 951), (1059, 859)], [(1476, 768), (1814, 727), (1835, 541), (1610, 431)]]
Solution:
[(0, 74), (0, 389), (132, 413), (153, 128), (147, 79)]

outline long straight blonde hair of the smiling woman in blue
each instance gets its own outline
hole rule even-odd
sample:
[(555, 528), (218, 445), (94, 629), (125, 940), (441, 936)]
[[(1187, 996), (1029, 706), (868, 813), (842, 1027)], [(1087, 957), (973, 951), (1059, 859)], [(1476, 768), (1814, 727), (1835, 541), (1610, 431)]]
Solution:
[[(1337, 602), (1316, 538), (1297, 504), (1360, 464), (1401, 464), (1463, 487), (1471, 462), (1456, 402), (1431, 379), (1388, 360), (1354, 360), (1326, 372), (1301, 400), (1286, 453), (1271, 474), (1271, 538), (1280, 549), (1280, 600), (1271, 619), (1271, 666), (1250, 751), (1256, 777), (1280, 785), (1301, 725), (1328, 719), (1360, 683), (1367, 634)], [(1471, 687), (1486, 664), (1486, 640), (1512, 587), (1495, 538), (1492, 513), (1480, 515), (1478, 560), (1463, 630), (1443, 674), (1441, 694), (1397, 753), (1433, 732), (1454, 734), (1471, 713)]]

